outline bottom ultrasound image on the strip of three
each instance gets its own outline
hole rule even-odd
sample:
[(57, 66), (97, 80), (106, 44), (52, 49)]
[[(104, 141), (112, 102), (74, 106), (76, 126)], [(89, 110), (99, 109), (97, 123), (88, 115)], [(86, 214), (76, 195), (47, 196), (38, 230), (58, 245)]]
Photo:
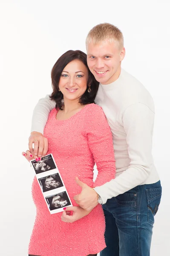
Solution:
[(71, 206), (68, 194), (66, 191), (46, 197), (46, 202), (50, 211), (59, 212), (60, 208)]

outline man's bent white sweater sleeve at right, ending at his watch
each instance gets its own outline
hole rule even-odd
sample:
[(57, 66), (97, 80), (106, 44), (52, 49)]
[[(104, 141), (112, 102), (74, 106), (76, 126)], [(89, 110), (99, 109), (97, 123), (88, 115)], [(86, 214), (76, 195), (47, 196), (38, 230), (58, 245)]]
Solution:
[(95, 187), (95, 191), (104, 203), (107, 199), (123, 194), (143, 183), (152, 170), (153, 111), (142, 103), (136, 103), (124, 111), (122, 121), (127, 134), (130, 165), (114, 180)]

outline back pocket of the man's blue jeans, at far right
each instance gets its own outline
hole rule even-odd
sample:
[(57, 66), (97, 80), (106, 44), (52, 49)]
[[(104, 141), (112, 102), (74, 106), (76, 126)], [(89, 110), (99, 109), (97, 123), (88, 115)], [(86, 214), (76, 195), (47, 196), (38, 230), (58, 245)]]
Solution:
[(162, 187), (155, 189), (146, 189), (147, 193), (147, 217), (148, 222), (154, 223), (154, 216), (158, 211), (158, 207), (161, 201)]

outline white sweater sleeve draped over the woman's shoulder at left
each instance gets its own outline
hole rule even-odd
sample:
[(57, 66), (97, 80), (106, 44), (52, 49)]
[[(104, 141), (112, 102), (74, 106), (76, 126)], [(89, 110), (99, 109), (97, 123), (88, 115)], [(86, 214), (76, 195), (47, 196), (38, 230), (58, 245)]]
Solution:
[(49, 95), (38, 101), (33, 111), (31, 131), (38, 131), (43, 134), (49, 112), (53, 108), (55, 108), (55, 101), (51, 100)]

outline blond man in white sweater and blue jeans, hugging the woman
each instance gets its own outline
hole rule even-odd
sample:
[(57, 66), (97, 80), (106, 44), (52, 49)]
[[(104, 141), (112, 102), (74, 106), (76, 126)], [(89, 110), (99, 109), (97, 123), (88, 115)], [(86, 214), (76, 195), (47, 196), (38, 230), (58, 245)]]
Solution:
[[(149, 256), (154, 215), (161, 200), (151, 153), (153, 100), (137, 79), (121, 69), (125, 49), (117, 27), (95, 26), (87, 35), (86, 49), (89, 69), (100, 82), (95, 102), (103, 108), (113, 134), (116, 178), (95, 189), (77, 178), (82, 192), (75, 201), (86, 210), (103, 204), (107, 248), (101, 256)], [(43, 128), (52, 108), (55, 102), (46, 96), (34, 110), (29, 149), (35, 143), (37, 157), (48, 149)]]

